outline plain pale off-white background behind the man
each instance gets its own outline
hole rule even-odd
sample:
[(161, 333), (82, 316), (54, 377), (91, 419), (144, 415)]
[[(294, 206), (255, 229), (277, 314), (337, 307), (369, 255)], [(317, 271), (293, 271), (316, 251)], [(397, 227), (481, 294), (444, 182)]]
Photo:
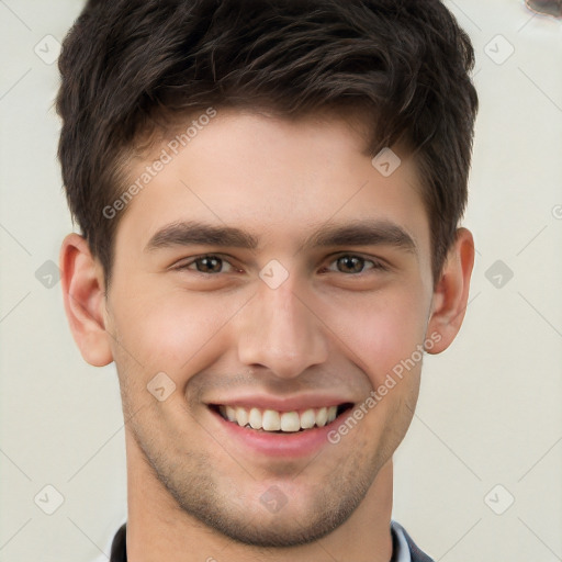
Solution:
[[(555, 562), (562, 23), (516, 0), (446, 3), (477, 57), (481, 110), (464, 221), (477, 259), (458, 340), (424, 366), (418, 409), (395, 454), (393, 517), (436, 561)], [(60, 284), (53, 278), (45, 286), (44, 263), (58, 262), (71, 231), (56, 161), (58, 71), (47, 64), (56, 43), (45, 36), (61, 41), (80, 8), (0, 0), (0, 562), (106, 560), (126, 517), (114, 366), (82, 360)], [(64, 496), (53, 515), (34, 501), (47, 484)]]

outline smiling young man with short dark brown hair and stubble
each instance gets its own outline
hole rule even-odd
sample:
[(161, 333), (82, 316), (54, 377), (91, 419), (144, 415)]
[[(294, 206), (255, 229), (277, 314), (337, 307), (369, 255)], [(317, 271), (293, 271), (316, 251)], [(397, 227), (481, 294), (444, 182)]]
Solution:
[(430, 560), (391, 521), (392, 456), (474, 258), (453, 16), (98, 1), (59, 66), (65, 307), (125, 419), (111, 560)]

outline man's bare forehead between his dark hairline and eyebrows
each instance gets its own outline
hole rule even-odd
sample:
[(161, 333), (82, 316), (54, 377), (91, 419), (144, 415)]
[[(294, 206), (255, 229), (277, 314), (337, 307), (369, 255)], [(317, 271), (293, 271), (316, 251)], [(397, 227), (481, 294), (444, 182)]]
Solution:
[(414, 162), (395, 148), (400, 166), (381, 173), (355, 122), (221, 110), (178, 131), (130, 164), (127, 184), (142, 189), (126, 204), (117, 240), (144, 247), (165, 225), (198, 221), (296, 243), (326, 222), (378, 220), (402, 227), (416, 245), (428, 241)]

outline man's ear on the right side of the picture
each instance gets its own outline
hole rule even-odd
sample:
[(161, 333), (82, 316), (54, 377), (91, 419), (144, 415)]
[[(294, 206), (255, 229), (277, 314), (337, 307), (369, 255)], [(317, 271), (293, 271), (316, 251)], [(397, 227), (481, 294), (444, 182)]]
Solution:
[(434, 290), (428, 334), (439, 334), (429, 353), (440, 353), (452, 342), (464, 318), (469, 300), (470, 277), (474, 265), (474, 240), (467, 228), (457, 231), (453, 246), (447, 254), (441, 277)]

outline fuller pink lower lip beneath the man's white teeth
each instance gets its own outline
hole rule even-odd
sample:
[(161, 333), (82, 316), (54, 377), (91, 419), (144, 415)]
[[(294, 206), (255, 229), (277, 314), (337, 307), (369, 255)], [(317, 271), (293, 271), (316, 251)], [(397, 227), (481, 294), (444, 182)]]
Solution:
[(291, 434), (273, 434), (240, 427), (234, 422), (226, 420), (221, 414), (210, 408), (211, 414), (218, 420), (229, 438), (243, 443), (248, 449), (268, 457), (307, 457), (317, 452), (322, 447), (331, 445), (328, 434), (338, 427), (340, 416), (324, 427), (305, 429)]

